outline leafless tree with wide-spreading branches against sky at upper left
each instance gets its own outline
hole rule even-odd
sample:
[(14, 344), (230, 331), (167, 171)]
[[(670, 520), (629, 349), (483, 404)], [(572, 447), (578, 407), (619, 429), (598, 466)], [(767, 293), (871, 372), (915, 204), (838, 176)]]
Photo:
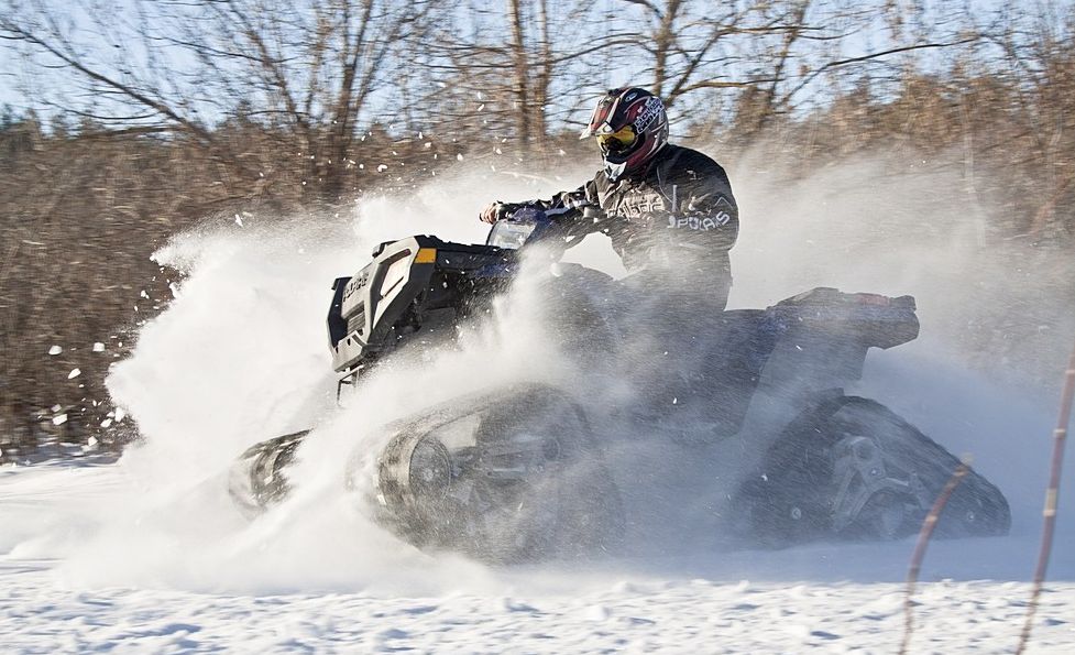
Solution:
[[(0, 34), (74, 73), (86, 95), (62, 94), (64, 110), (127, 128), (188, 134), (244, 182), (263, 172), (216, 139), (211, 124), (241, 114), (305, 157), (314, 197), (344, 190), (348, 153), (371, 102), (406, 65), (405, 44), (430, 3), (391, 0), (138, 2), (133, 19), (107, 4), (72, 23), (42, 1), (9, 0)], [(85, 23), (85, 24), (84, 24)], [(90, 41), (112, 43), (118, 57)], [(103, 101), (102, 101), (103, 100)], [(299, 154), (300, 153), (300, 154)]]

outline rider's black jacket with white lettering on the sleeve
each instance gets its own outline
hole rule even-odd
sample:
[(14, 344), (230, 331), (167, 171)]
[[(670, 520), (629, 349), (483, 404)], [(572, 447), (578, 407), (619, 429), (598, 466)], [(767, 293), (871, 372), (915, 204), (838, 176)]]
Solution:
[(592, 220), (582, 210), (600, 207), (607, 218), (591, 231), (608, 234), (629, 272), (672, 264), (685, 277), (731, 284), (727, 251), (739, 231), (738, 209), (724, 168), (695, 150), (668, 144), (633, 175), (610, 182), (601, 171), (575, 190), (534, 204), (572, 221)]

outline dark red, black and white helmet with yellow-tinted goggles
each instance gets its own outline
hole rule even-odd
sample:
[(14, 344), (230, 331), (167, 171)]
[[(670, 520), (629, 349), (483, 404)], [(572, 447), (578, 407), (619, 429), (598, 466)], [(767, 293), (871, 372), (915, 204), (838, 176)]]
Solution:
[(640, 168), (668, 143), (660, 98), (636, 87), (612, 89), (597, 100), (580, 139), (597, 138), (608, 179)]

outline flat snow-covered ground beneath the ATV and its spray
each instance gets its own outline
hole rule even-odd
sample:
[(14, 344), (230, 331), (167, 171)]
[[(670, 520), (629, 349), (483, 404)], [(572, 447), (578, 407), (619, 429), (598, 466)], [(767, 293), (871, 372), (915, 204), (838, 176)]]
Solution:
[[(110, 583), (124, 563), (107, 553), (65, 565), (78, 560), (94, 507), (136, 492), (119, 466), (0, 469), (6, 653), (892, 653), (902, 638), (909, 541), (575, 569), (427, 558), (416, 566), (426, 580), (369, 570), (379, 579), (363, 583), (340, 570), (305, 589), (273, 576), (230, 590), (213, 590), (228, 580), (183, 588), (166, 572)], [(914, 596), (911, 652), (1011, 652), (1034, 550), (1028, 536), (934, 543)], [(1032, 653), (1075, 648), (1069, 545), (1055, 558)]]

